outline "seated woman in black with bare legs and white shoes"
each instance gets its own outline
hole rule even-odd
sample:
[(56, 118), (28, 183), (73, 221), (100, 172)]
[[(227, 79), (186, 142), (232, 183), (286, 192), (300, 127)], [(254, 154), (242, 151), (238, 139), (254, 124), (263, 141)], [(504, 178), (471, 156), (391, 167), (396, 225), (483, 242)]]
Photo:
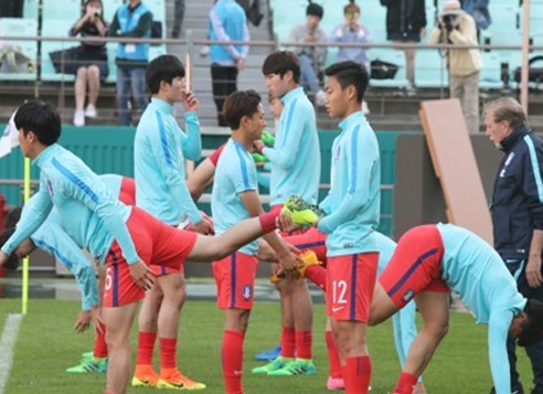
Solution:
[[(106, 36), (108, 24), (104, 21), (103, 10), (102, 0), (87, 0), (83, 15), (70, 30), (70, 35), (76, 36), (81, 34), (83, 38)], [(96, 102), (100, 93), (100, 81), (107, 78), (109, 74), (106, 43), (103, 41), (82, 42), (73, 70), (76, 74), (74, 85), (74, 125), (81, 127), (85, 126), (85, 117), (95, 118), (97, 115)], [(88, 105), (83, 109), (87, 96), (87, 87)]]

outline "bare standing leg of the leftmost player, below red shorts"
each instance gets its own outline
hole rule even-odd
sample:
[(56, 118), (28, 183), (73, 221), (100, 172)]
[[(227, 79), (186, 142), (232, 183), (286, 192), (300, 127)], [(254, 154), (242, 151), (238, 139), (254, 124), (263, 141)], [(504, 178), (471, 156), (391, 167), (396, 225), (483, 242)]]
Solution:
[(103, 309), (109, 352), (106, 393), (124, 394), (126, 392), (130, 377), (130, 329), (137, 310), (138, 302)]

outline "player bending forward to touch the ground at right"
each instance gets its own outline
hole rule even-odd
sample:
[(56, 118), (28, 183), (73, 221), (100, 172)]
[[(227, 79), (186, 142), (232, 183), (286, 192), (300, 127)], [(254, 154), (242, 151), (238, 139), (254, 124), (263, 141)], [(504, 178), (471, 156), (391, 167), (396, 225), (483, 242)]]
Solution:
[(413, 298), (424, 320), (393, 393), (413, 392), (447, 333), (449, 288), (478, 323), (488, 324), (496, 393), (510, 394), (508, 333), (518, 338), (520, 345), (541, 339), (543, 304), (523, 298), (498, 253), (479, 236), (453, 224), (424, 225), (405, 233), (375, 286), (370, 326), (386, 320)]

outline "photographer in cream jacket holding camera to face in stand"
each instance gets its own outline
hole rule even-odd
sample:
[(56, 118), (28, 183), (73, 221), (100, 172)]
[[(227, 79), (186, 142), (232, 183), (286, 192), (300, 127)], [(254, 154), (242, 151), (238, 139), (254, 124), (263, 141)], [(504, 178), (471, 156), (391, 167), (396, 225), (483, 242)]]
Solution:
[[(461, 10), (458, 0), (447, 0), (429, 36), (429, 44), (478, 45), (473, 18)], [(449, 68), (450, 97), (460, 99), (470, 134), (479, 132), (479, 72), (482, 68), (478, 49), (445, 50)]]

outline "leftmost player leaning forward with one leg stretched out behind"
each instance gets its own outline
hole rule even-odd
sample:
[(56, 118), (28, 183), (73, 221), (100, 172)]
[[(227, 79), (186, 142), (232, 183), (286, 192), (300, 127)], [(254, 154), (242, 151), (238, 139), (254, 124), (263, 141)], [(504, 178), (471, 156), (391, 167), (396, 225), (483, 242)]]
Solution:
[(30, 214), (2, 246), (0, 266), (40, 227), (54, 205), (76, 243), (107, 265), (103, 311), (109, 352), (106, 393), (124, 394), (130, 373), (130, 328), (138, 301), (153, 285), (148, 265), (179, 269), (187, 258), (221, 259), (275, 230), (277, 215), (267, 213), (244, 221), (219, 237), (168, 226), (138, 207), (123, 204), (81, 159), (56, 143), (61, 118), (52, 105), (23, 104), (14, 120), (23, 155), (41, 170), (40, 189)]

